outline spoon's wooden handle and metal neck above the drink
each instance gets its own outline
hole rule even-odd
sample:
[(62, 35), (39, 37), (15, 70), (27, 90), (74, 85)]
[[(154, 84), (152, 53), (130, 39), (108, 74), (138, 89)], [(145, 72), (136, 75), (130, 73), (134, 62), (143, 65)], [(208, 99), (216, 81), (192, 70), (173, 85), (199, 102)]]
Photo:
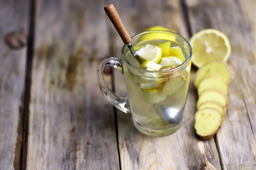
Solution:
[(123, 40), (124, 44), (126, 44), (128, 46), (132, 55), (139, 62), (139, 64), (141, 64), (142, 61), (141, 61), (139, 55), (136, 54), (136, 51), (132, 47), (132, 43), (131, 43), (132, 39), (130, 38), (130, 35), (128, 34), (126, 28), (124, 27), (124, 24), (123, 24), (121, 18), (119, 17), (119, 15), (117, 13), (117, 10), (115, 9), (114, 5), (113, 4), (107, 4), (104, 7), (104, 10), (107, 13), (108, 18), (110, 19), (112, 24), (115, 26), (115, 29), (119, 33), (119, 35), (120, 35), (121, 39)]

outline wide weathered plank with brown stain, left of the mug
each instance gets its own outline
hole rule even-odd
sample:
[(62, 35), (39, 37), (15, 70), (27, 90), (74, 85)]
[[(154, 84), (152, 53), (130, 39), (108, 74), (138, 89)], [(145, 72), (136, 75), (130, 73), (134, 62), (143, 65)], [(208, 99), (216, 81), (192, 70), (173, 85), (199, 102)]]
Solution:
[(103, 0), (36, 4), (27, 170), (119, 169), (113, 109), (96, 79), (109, 48)]

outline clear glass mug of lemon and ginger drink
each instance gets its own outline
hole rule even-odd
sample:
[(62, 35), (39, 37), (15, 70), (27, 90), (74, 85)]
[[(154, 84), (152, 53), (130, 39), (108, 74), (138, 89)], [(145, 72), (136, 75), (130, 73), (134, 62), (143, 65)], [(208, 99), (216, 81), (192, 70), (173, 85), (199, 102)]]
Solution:
[[(170, 41), (170, 48), (180, 47), (184, 62), (175, 68), (149, 71), (139, 68), (140, 63), (124, 44), (121, 59), (105, 57), (98, 64), (101, 92), (112, 105), (132, 116), (139, 132), (153, 137), (170, 135), (182, 124), (191, 72), (191, 46), (185, 38), (171, 31), (145, 31), (131, 39), (135, 51), (145, 44)], [(117, 68), (124, 74), (128, 97), (120, 97), (108, 87), (103, 78), (106, 66)]]

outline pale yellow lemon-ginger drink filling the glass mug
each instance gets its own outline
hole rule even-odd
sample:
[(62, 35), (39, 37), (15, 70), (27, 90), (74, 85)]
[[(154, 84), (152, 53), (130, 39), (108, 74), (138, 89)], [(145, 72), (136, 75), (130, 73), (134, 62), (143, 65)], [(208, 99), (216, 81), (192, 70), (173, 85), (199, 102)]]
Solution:
[[(138, 46), (144, 46), (145, 44), (157, 45), (162, 43), (161, 40), (150, 40), (138, 44)], [(171, 46), (180, 46), (175, 42), (171, 42)], [(182, 46), (180, 46), (182, 48)], [(135, 50), (138, 47), (135, 46)], [(185, 50), (182, 48), (185, 58), (188, 56)], [(135, 60), (130, 52), (126, 55), (127, 60), (135, 66), (140, 64)], [(171, 86), (174, 93), (163, 95), (161, 88), (155, 93), (148, 93), (139, 86), (139, 80), (144, 78), (145, 74), (139, 75), (139, 73), (133, 73), (130, 71), (126, 64), (123, 66), (124, 76), (126, 80), (126, 87), (128, 91), (128, 102), (132, 113), (132, 119), (135, 127), (139, 131), (151, 136), (168, 135), (179, 128), (183, 112), (186, 104), (186, 97), (189, 88), (189, 75), (190, 66), (181, 70), (184, 83), (182, 85)], [(147, 73), (146, 77), (150, 77), (150, 81), (153, 82), (162, 81), (162, 77), (158, 77), (157, 73)], [(157, 78), (153, 78), (157, 77)], [(165, 76), (166, 77), (166, 76)], [(174, 79), (173, 79), (174, 80)], [(171, 80), (171, 81), (173, 81)], [(163, 85), (164, 86), (164, 85)], [(172, 89), (170, 89), (171, 91)]]

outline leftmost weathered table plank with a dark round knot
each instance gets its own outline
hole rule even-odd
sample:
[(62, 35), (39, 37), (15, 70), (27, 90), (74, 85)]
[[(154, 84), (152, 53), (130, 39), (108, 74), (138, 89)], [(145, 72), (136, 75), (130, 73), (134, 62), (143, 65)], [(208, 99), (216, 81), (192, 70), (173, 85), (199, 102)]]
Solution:
[[(23, 93), (25, 91), (29, 1), (0, 0), (0, 169), (19, 170), (22, 146)], [(9, 34), (13, 32), (13, 34)], [(15, 35), (15, 33), (21, 33)], [(19, 37), (21, 36), (21, 37)]]

